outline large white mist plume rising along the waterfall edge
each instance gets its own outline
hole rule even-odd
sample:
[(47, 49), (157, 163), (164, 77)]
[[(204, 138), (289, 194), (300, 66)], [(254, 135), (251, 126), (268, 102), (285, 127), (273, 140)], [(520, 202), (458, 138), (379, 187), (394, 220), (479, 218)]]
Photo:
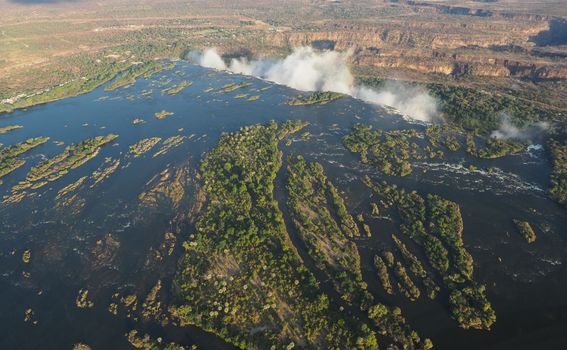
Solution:
[(216, 49), (190, 53), (189, 58), (203, 67), (251, 75), (301, 91), (334, 91), (363, 101), (388, 105), (420, 121), (439, 118), (437, 101), (421, 87), (389, 82), (379, 90), (355, 86), (348, 65), (351, 51), (319, 51), (299, 47), (281, 60), (232, 59), (227, 65)]

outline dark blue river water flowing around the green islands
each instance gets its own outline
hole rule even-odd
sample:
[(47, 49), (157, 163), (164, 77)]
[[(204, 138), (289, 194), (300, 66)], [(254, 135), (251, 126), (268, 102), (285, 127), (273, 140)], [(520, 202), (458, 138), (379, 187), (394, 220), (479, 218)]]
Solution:
[[(169, 86), (182, 80), (192, 81), (193, 85), (176, 96), (162, 95), (165, 86), (161, 85), (169, 79)], [(252, 86), (227, 94), (203, 92), (245, 80)], [(144, 90), (152, 93), (143, 96)], [(242, 93), (261, 97), (258, 101), (235, 98)], [(7, 195), (14, 184), (23, 180), (31, 166), (63, 150), (52, 141), (69, 145), (97, 135), (120, 136), (116, 144), (103, 147), (96, 158), (79, 169), (34, 191), (35, 196), (19, 204), (0, 206), (0, 348), (70, 349), (77, 342), (93, 349), (129, 348), (124, 334), (131, 329), (204, 349), (226, 347), (215, 336), (198, 329), (162, 327), (128, 318), (124, 312), (115, 316), (107, 310), (114, 293), (136, 293), (143, 301), (158, 279), (162, 281), (164, 303), (172, 298), (171, 279), (182, 252), (179, 242), (192, 228), (174, 224), (176, 211), (172, 208), (141, 206), (138, 195), (147, 190), (146, 183), (162, 170), (182, 164), (194, 177), (202, 155), (215, 145), (222, 132), (272, 119), (302, 119), (311, 122), (306, 129), (311, 137), (302, 140), (297, 136), (291, 146), (282, 145), (284, 153), (300, 153), (308, 160), (321, 162), (329, 178), (344, 191), (349, 208), (355, 214), (367, 212), (372, 195), (360, 181), (361, 176), (368, 174), (376, 180), (381, 176), (342, 147), (342, 136), (355, 122), (385, 130), (423, 128), (393, 111), (350, 98), (321, 106), (287, 106), (285, 102), (296, 94), (264, 81), (178, 62), (173, 70), (140, 79), (128, 89), (98, 89), (3, 116), (0, 127), (20, 124), (24, 128), (0, 135), (1, 143), (10, 145), (37, 136), (49, 136), (51, 140), (24, 155), (26, 165), (3, 179), (1, 195)], [(154, 113), (162, 109), (175, 115), (155, 119)], [(133, 125), (134, 118), (147, 123)], [(160, 145), (139, 158), (127, 155), (128, 147), (142, 138), (175, 135), (187, 136), (187, 140), (163, 156), (152, 157)], [(120, 168), (96, 187), (80, 190), (85, 206), (79, 214), (55, 208), (58, 190), (89, 176), (108, 157), (120, 159)], [(481, 170), (467, 170), (471, 164)], [(489, 167), (496, 170), (482, 170)], [(492, 331), (458, 328), (450, 318), (443, 294), (433, 302), (423, 297), (409, 302), (383, 292), (372, 258), (378, 249), (390, 244), (390, 235), (396, 233), (397, 225), (388, 218), (368, 219), (374, 235), (358, 242), (363, 276), (370, 291), (377, 300), (400, 305), (409, 323), (420, 335), (432, 338), (437, 349), (562, 348), (567, 344), (567, 211), (545, 196), (549, 171), (541, 151), (495, 161), (479, 161), (457, 152), (448, 154), (445, 162), (414, 164), (414, 172), (406, 178), (388, 178), (408, 190), (436, 193), (460, 204), (465, 245), (475, 260), (475, 278), (487, 285), (497, 313)], [(276, 197), (285, 213), (281, 175)], [(180, 211), (187, 212), (189, 206), (186, 203)], [(534, 225), (538, 233), (535, 243), (528, 245), (519, 237), (512, 223), (515, 218)], [(148, 264), (150, 248), (159, 247), (166, 232), (177, 234), (174, 253), (161, 262)], [(108, 233), (119, 242), (119, 248), (115, 256), (101, 263), (92, 251)], [(26, 249), (32, 254), (29, 264), (21, 258)], [(81, 288), (89, 290), (93, 308), (75, 306)], [(27, 308), (34, 310), (36, 325), (24, 322)]]

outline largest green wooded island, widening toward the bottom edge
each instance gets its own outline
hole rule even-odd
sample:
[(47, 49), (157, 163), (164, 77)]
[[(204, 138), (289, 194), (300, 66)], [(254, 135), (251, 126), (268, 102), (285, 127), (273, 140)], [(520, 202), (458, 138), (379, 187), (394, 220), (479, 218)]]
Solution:
[(374, 332), (340, 315), (321, 292), (274, 199), (278, 142), (302, 126), (244, 127), (224, 134), (203, 159), (204, 199), (184, 243), (172, 311), (240, 348), (376, 348)]

